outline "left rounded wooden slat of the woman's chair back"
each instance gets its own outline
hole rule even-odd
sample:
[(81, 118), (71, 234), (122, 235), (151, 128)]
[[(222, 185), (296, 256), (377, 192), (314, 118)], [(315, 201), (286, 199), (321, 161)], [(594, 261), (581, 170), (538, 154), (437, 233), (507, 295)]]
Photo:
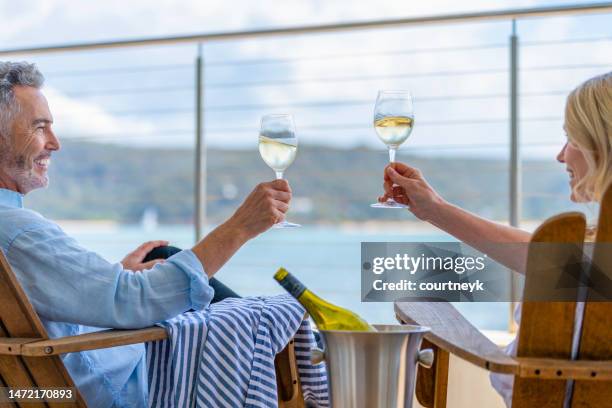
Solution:
[[(566, 213), (547, 220), (534, 233), (533, 243), (572, 243), (532, 245), (527, 256), (525, 293), (542, 279), (558, 282), (566, 264), (581, 259), (586, 221), (580, 213)], [(577, 288), (575, 296), (577, 296)], [(522, 305), (517, 357), (569, 359), (572, 350), (576, 302), (525, 301)], [(565, 380), (542, 380), (515, 376), (513, 408), (561, 408)]]

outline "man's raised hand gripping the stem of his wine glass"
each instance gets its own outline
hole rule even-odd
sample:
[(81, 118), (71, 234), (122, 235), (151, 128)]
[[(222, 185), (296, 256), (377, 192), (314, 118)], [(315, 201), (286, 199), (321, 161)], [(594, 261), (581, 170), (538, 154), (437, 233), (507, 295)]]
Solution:
[(261, 183), (244, 200), (227, 225), (251, 239), (285, 219), (291, 201), (291, 188), (287, 180)]

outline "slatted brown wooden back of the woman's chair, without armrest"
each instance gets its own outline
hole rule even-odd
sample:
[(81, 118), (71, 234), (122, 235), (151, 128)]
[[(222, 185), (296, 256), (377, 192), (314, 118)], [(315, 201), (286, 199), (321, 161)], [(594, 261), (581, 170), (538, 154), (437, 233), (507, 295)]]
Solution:
[[(559, 282), (564, 269), (582, 257), (586, 230), (584, 216), (567, 213), (554, 217), (533, 235), (536, 243), (529, 249), (525, 276), (525, 299), (531, 288), (540, 284)], [(604, 195), (600, 207), (596, 243), (612, 242), (612, 187)], [(537, 243), (573, 244), (537, 246)], [(574, 248), (569, 249), (568, 248)], [(595, 245), (593, 261), (600, 270), (610, 274), (612, 254), (607, 246)], [(579, 297), (578, 288), (567, 293), (576, 300), (586, 300), (582, 334), (577, 359), (612, 360), (612, 303), (589, 302)], [(517, 357), (572, 359), (572, 341), (576, 319), (576, 302), (525, 301), (522, 305)], [(558, 370), (559, 376), (563, 374)], [(512, 396), (513, 408), (561, 408), (566, 399), (564, 379), (551, 380), (515, 376)], [(575, 381), (572, 407), (606, 406), (612, 401), (609, 381)]]

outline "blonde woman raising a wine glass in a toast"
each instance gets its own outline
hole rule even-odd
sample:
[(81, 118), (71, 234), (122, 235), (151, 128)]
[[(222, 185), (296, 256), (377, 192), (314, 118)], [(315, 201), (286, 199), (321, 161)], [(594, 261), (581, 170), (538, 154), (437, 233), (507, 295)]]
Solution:
[[(599, 202), (612, 182), (612, 72), (589, 79), (569, 94), (563, 128), (567, 142), (557, 155), (557, 161), (565, 164), (569, 173), (570, 199)], [(524, 273), (526, 246), (523, 253), (517, 254), (517, 246), (499, 243), (529, 242), (529, 232), (486, 220), (446, 202), (419, 169), (402, 163), (385, 169), (384, 190), (379, 201), (392, 197), (408, 205), (417, 218)], [(587, 239), (592, 240), (594, 234), (590, 229)], [(515, 315), (520, 317), (520, 311)], [(506, 351), (515, 354), (516, 342)], [(512, 380), (513, 377), (507, 375), (491, 376), (493, 386), (504, 397), (507, 406), (512, 400)]]

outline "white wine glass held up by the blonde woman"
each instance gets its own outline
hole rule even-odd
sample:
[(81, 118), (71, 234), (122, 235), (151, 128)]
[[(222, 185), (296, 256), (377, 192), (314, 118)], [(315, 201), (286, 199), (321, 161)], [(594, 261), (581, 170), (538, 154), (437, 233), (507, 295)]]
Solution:
[[(389, 162), (395, 162), (395, 152), (408, 139), (414, 126), (412, 95), (409, 91), (378, 91), (374, 107), (374, 130), (389, 148)], [(371, 204), (374, 208), (407, 208), (393, 198), (384, 203)]]

